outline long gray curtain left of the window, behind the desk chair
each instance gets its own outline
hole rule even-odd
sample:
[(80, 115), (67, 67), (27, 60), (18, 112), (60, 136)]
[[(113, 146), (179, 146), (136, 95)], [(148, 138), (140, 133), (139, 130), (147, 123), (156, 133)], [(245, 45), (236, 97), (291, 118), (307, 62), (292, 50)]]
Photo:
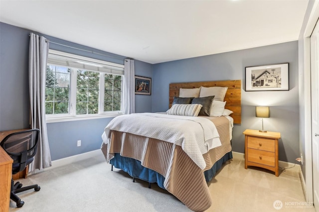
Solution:
[(45, 73), (49, 42), (43, 36), (30, 33), (29, 45), (29, 93), (30, 126), (40, 130), (37, 152), (29, 171), (50, 167), (51, 154), (45, 120)]

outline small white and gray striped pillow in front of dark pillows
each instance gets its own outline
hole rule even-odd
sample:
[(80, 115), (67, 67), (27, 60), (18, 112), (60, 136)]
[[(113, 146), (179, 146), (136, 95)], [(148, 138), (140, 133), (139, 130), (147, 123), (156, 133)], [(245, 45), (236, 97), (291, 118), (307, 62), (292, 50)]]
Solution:
[(201, 104), (173, 104), (168, 110), (168, 115), (198, 116)]

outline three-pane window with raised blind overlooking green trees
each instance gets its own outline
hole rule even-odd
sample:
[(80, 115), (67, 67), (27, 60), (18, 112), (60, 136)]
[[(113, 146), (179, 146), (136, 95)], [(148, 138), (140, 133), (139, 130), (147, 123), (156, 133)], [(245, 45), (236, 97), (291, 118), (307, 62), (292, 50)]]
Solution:
[(122, 113), (124, 66), (49, 50), (47, 119)]

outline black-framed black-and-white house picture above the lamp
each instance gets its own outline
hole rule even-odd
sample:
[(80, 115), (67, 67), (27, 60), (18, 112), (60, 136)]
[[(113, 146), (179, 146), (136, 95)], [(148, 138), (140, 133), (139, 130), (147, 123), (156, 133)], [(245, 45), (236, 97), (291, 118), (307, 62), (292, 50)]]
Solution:
[(246, 91), (289, 90), (289, 63), (245, 69)]

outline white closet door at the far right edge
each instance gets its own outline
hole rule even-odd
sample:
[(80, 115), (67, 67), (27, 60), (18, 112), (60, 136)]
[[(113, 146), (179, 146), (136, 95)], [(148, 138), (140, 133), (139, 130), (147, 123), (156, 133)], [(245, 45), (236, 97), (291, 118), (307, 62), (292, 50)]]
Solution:
[(319, 212), (319, 22), (310, 37), (314, 205)]

